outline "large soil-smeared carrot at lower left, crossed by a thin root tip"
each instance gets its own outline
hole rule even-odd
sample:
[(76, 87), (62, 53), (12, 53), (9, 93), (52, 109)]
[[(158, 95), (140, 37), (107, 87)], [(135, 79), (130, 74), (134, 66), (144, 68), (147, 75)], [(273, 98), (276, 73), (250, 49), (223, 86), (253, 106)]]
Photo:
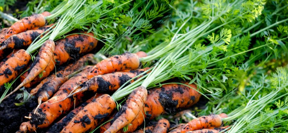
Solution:
[(76, 101), (75, 105), (77, 105), (78, 102), (80, 102), (83, 94), (78, 94), (74, 98), (66, 99), (62, 102), (58, 102), (57, 104), (52, 103), (62, 100), (70, 93), (70, 91), (72, 91), (75, 86), (78, 86), (87, 81), (87, 74), (90, 70), (91, 69), (88, 68), (66, 81), (51, 99), (47, 100), (39, 106), (35, 114), (29, 114), (29, 117), (31, 117), (30, 121), (23, 122), (21, 124), (21, 126), (27, 128), (20, 128), (18, 132), (25, 133), (27, 131), (31, 132), (31, 130), (34, 131), (37, 128), (46, 128), (52, 124), (53, 121), (56, 120), (60, 115), (66, 113), (74, 106), (74, 99)]

